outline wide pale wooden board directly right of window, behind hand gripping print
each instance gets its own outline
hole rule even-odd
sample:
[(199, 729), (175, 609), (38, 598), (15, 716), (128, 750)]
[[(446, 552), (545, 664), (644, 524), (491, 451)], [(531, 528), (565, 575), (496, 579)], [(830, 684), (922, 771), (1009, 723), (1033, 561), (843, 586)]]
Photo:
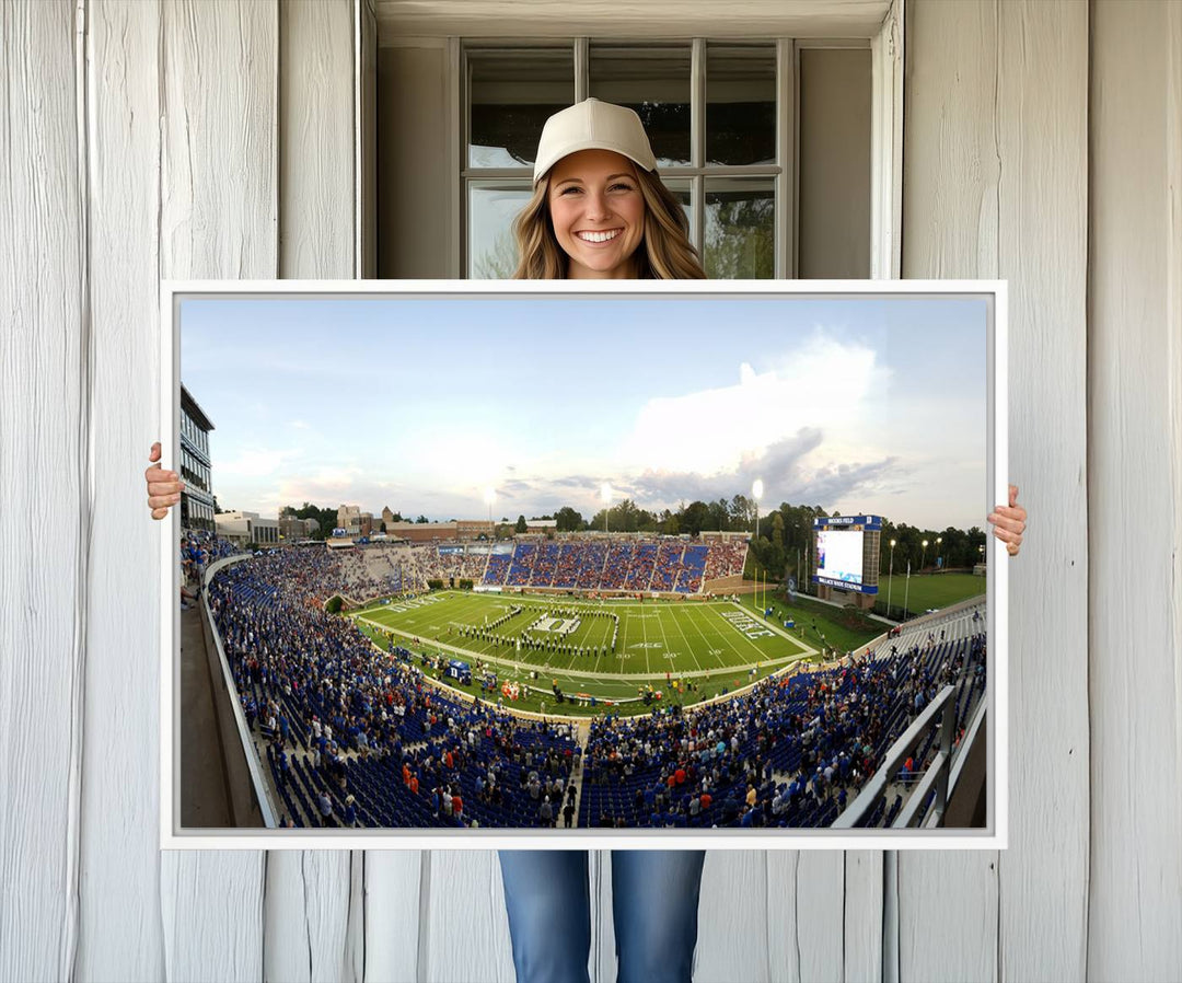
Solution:
[(898, 855), (898, 978), (1080, 979), (1087, 7), (908, 14), (903, 276), (1009, 280), (1009, 470), (1034, 520), (1011, 568), (1009, 849)]

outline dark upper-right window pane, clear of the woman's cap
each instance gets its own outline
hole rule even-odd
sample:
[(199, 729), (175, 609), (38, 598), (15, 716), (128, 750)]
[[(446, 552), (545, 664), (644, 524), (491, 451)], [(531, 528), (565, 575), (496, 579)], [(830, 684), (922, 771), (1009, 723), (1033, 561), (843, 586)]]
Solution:
[(706, 48), (706, 163), (775, 163), (775, 47)]

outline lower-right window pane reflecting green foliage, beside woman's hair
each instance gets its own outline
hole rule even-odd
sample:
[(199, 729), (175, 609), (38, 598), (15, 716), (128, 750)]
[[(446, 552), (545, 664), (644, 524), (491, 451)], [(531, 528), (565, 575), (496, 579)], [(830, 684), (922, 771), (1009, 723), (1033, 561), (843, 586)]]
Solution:
[(771, 279), (775, 271), (775, 200), (769, 179), (706, 182), (706, 276)]

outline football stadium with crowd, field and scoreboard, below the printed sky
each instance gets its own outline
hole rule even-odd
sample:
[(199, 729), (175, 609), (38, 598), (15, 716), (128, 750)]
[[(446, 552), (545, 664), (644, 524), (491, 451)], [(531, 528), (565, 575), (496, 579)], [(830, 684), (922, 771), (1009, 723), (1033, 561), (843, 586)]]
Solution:
[[(819, 515), (799, 584), (746, 533), (190, 533), (182, 555), (267, 824), (948, 824), (950, 764), (983, 733), (985, 578), (879, 584), (881, 519)], [(944, 603), (895, 622), (881, 587)]]

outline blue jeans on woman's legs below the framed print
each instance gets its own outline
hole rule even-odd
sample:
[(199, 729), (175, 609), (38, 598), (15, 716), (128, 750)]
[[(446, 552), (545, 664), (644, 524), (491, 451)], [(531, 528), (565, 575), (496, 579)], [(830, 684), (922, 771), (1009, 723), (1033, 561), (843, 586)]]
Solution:
[[(501, 851), (518, 983), (589, 983), (586, 851)], [(689, 983), (704, 851), (611, 851), (617, 983)]]

